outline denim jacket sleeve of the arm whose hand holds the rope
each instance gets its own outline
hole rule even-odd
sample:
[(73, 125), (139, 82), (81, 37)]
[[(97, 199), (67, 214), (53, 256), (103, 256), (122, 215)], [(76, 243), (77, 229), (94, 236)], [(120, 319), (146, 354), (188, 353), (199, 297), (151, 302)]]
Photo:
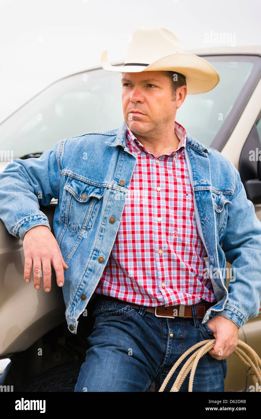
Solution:
[[(232, 163), (230, 163), (232, 164)], [(228, 285), (228, 301), (221, 316), (240, 328), (259, 313), (261, 300), (261, 222), (247, 199), (238, 170), (235, 191), (228, 207), (228, 222), (222, 249), (232, 265), (234, 278)]]

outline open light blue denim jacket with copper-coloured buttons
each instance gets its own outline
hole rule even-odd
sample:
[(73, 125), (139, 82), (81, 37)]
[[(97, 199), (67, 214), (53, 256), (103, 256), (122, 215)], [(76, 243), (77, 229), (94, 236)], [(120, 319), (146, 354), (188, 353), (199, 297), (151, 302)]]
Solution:
[[(117, 129), (60, 140), (40, 158), (11, 160), (0, 173), (0, 218), (21, 240), (36, 225), (50, 228), (39, 204), (58, 199), (54, 234), (69, 267), (62, 289), (74, 334), (110, 256), (136, 164), (126, 130), (123, 122)], [(217, 301), (202, 323), (220, 314), (240, 328), (260, 307), (261, 222), (227, 158), (189, 134), (184, 153), (198, 234), (208, 255), (205, 272)], [(233, 269), (228, 290), (226, 260)]]

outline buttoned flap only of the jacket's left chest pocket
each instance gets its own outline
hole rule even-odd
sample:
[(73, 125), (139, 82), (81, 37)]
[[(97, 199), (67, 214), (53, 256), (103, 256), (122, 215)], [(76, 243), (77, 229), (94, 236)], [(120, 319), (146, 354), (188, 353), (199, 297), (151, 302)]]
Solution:
[(75, 178), (68, 178), (64, 189), (67, 189), (79, 202), (88, 202), (90, 197), (101, 199), (105, 191), (104, 187), (87, 184)]

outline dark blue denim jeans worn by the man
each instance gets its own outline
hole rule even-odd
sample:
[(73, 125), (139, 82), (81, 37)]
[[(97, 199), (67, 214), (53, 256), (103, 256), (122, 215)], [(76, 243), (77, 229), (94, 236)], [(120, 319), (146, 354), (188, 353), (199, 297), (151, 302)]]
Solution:
[[(202, 325), (192, 306), (193, 318), (161, 318), (113, 300), (97, 300), (95, 318), (88, 338), (90, 348), (82, 364), (74, 391), (148, 391), (152, 381), (159, 391), (166, 375), (187, 349), (205, 339), (215, 339), (209, 326)], [(172, 336), (173, 334), (173, 336)], [(171, 335), (171, 336), (170, 336)], [(165, 391), (170, 391), (187, 361), (182, 361)], [(189, 374), (179, 391), (187, 392)], [(224, 391), (227, 360), (210, 354), (200, 358), (193, 391)]]

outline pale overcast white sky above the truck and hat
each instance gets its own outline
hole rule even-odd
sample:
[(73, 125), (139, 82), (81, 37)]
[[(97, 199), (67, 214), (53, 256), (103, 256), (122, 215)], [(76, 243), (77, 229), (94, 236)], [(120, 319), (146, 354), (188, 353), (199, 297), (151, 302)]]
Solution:
[[(261, 45), (260, 15), (260, 0), (0, 0), (0, 122), (55, 80), (100, 67), (106, 49), (124, 62), (141, 26), (169, 29), (184, 49), (233, 49)], [(213, 45), (224, 33), (229, 44)]]

